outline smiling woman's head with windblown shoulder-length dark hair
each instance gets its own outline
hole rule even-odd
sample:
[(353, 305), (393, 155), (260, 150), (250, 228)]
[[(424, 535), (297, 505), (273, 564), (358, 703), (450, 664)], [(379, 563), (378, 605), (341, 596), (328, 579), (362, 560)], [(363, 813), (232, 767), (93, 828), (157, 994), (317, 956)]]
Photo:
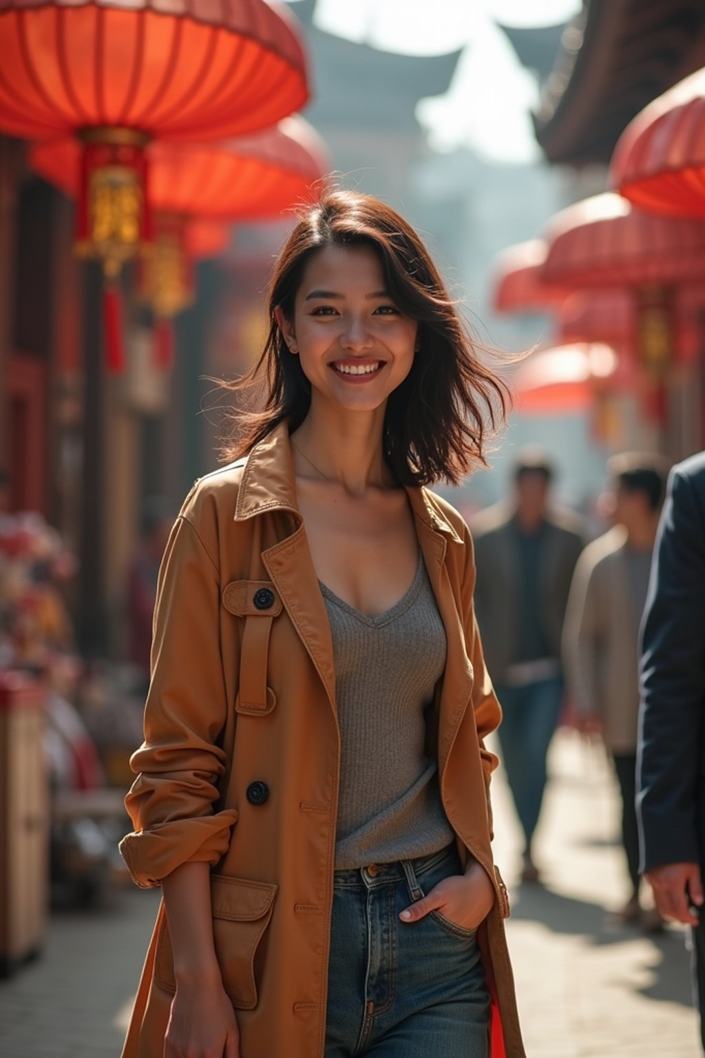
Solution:
[(261, 393), (267, 380), (265, 408), (238, 412), (227, 458), (284, 419), (297, 431), (330, 387), (331, 368), (367, 380), (373, 363), (367, 381), (378, 385), (350, 399), (376, 409), (384, 460), (398, 484), (458, 484), (484, 463), (484, 420), (496, 428), (506, 387), (482, 363), (422, 240), (385, 203), (333, 190), (311, 207), (281, 251), (268, 312), (259, 363), (229, 387)]

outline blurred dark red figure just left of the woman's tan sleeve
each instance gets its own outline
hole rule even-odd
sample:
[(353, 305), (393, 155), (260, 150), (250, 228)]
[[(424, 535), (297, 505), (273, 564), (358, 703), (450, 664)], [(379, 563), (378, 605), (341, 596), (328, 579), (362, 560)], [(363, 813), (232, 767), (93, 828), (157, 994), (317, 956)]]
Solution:
[(140, 673), (141, 689), (145, 692), (149, 683), (156, 580), (172, 524), (173, 511), (166, 499), (150, 496), (144, 506), (140, 544), (128, 570), (129, 659)]

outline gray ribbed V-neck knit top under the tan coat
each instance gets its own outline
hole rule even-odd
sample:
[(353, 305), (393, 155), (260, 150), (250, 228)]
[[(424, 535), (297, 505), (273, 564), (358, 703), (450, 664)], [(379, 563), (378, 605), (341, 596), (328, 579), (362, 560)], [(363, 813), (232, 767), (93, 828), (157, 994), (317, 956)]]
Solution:
[(445, 669), (446, 637), (423, 558), (409, 590), (378, 617), (320, 590), (340, 726), (335, 869), (438, 852), (453, 832), (424, 751), (424, 711)]

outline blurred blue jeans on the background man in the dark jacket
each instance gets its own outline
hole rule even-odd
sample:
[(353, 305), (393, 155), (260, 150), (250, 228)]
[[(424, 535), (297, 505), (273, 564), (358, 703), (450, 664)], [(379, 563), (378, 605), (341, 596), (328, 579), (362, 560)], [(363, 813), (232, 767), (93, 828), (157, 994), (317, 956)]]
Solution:
[(522, 687), (497, 685), (502, 706), (498, 734), (506, 780), (531, 853), (546, 783), (545, 762), (563, 698), (560, 676)]

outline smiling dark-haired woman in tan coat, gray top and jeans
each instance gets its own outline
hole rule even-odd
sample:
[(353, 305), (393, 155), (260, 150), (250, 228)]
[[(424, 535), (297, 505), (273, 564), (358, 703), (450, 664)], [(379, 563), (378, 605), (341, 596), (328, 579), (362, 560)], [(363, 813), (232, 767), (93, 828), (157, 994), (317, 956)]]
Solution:
[(124, 1056), (522, 1058), (472, 545), (423, 488), (482, 461), (502, 383), (364, 195), (303, 214), (268, 318), (160, 574), (122, 849), (166, 920)]

